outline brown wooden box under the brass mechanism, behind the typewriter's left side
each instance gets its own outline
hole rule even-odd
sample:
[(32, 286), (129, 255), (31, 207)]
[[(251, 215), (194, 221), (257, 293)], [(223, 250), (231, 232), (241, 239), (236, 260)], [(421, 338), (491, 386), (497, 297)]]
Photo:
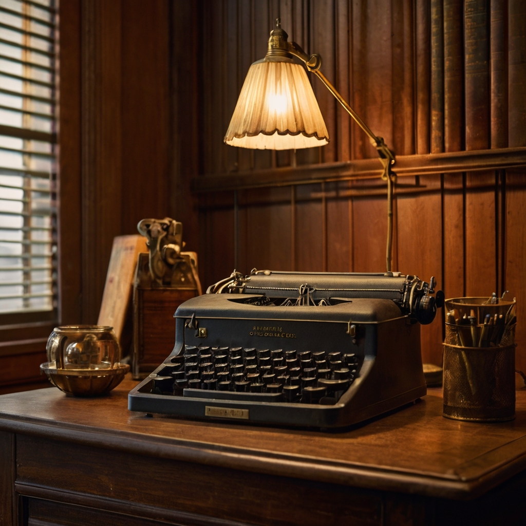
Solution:
[(145, 378), (156, 369), (174, 348), (177, 307), (200, 294), (197, 259), (194, 252), (181, 252), (194, 266), (196, 279), (185, 285), (160, 287), (151, 284), (148, 254), (139, 254), (133, 292), (133, 352), (131, 372), (134, 379)]

